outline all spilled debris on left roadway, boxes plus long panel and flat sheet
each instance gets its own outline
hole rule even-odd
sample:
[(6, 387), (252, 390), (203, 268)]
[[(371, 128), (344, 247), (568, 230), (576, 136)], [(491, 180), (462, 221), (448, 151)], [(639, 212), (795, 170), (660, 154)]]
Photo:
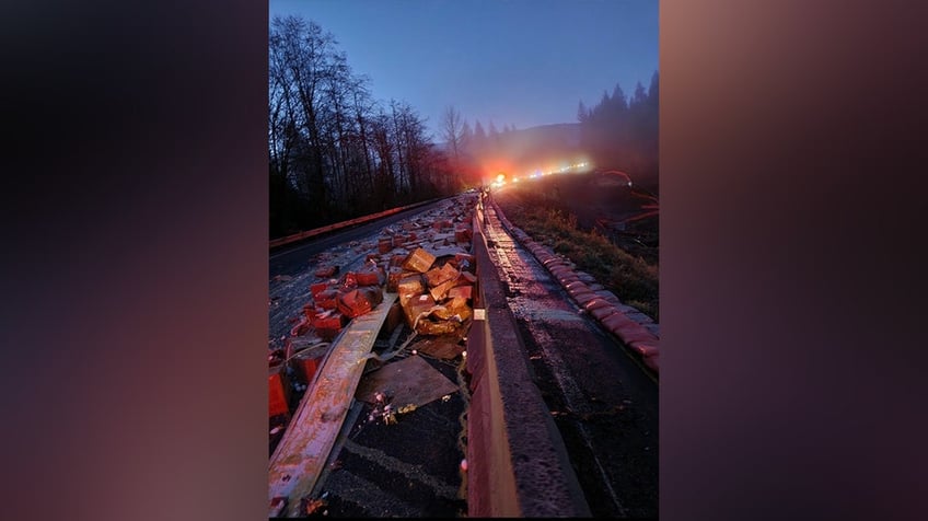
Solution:
[[(269, 485), (271, 497), (290, 490), (285, 498), (291, 502), (286, 508), (288, 516), (327, 513), (324, 497), (312, 499), (306, 494), (318, 478), (314, 465), (323, 461), (328, 441), (314, 441), (316, 447), (299, 445), (294, 440), (328, 440), (336, 428), (333, 424), (345, 421), (344, 407), (322, 406), (322, 398), (335, 394), (321, 390), (334, 390), (338, 385), (335, 380), (343, 380), (330, 377), (332, 368), (350, 364), (358, 368), (351, 371), (362, 374), (352, 393), (359, 407), (367, 407), (360, 413), (359, 426), (367, 419), (396, 432), (393, 426), (403, 422), (404, 415), (416, 417), (424, 405), (441, 401), (439, 407), (448, 410), (460, 403), (443, 405), (461, 390), (442, 374), (449, 363), (441, 362), (463, 355), (461, 339), (473, 315), (476, 263), (468, 252), (475, 206), (476, 198), (456, 200), (384, 228), (379, 235), (316, 254), (304, 273), (286, 280), (286, 285), (271, 286), (271, 302), (282, 304), (279, 311), (271, 306), (272, 337), (283, 341), (270, 343), (269, 347), (282, 351), (275, 355), (277, 378), (283, 392), (290, 393), (286, 397), (290, 407), (280, 416), (282, 420), (270, 426), (272, 437), (285, 436), (277, 450), (271, 440)], [(384, 305), (388, 310), (382, 309)], [(380, 334), (366, 337), (378, 351), (359, 354), (357, 363), (346, 358), (348, 363), (336, 364), (344, 357), (335, 347), (360, 340), (352, 323), (372, 312), (385, 314), (385, 328), (381, 326)], [(401, 347), (394, 349), (397, 345)], [(361, 370), (358, 363), (366, 363), (366, 368)], [(442, 371), (432, 364), (439, 364)], [(351, 396), (341, 395), (347, 400)], [(310, 410), (315, 412), (310, 415)], [(399, 431), (405, 428), (399, 427)], [(292, 481), (285, 479), (292, 472), (283, 464), (288, 455), (299, 455), (298, 466), (302, 468)], [(297, 481), (299, 487), (292, 485)], [(294, 505), (301, 497), (302, 503)]]

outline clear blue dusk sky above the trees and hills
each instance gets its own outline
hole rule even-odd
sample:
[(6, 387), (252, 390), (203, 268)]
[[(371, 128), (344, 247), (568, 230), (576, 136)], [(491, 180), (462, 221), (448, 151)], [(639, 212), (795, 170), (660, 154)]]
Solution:
[(577, 123), (616, 83), (658, 71), (657, 0), (270, 0), (316, 22), (374, 99), (408, 102), (432, 132), (451, 105), (473, 127)]

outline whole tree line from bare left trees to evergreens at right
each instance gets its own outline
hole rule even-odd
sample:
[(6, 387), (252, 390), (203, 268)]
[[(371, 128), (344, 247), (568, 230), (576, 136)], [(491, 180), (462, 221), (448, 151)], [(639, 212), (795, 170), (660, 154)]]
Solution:
[[(631, 99), (616, 84), (577, 124), (518, 130), (472, 127), (453, 106), (439, 121), (443, 146), (404, 101), (374, 100), (335, 37), (301, 16), (275, 16), (268, 40), (270, 236), (383, 211), (476, 186), (583, 152), (657, 192), (658, 73)], [(559, 127), (559, 128), (554, 128)]]

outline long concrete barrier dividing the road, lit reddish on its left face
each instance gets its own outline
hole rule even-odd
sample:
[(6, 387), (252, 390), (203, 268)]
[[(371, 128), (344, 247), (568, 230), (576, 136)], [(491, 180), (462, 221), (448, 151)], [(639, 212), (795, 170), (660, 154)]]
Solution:
[(467, 336), (468, 517), (590, 517), (564, 440), (532, 382), (515, 320), (474, 218), (474, 322)]

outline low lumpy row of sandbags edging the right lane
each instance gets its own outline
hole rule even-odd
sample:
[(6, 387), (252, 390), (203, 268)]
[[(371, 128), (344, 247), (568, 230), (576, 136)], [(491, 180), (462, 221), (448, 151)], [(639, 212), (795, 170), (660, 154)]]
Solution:
[(635, 308), (623, 304), (611, 291), (592, 289), (591, 285), (595, 280), (591, 276), (577, 273), (572, 263), (513, 225), (496, 201), (490, 204), (507, 231), (557, 279), (577, 305), (635, 352), (645, 366), (656, 374), (660, 373), (660, 338), (645, 325), (651, 322), (650, 319)]

